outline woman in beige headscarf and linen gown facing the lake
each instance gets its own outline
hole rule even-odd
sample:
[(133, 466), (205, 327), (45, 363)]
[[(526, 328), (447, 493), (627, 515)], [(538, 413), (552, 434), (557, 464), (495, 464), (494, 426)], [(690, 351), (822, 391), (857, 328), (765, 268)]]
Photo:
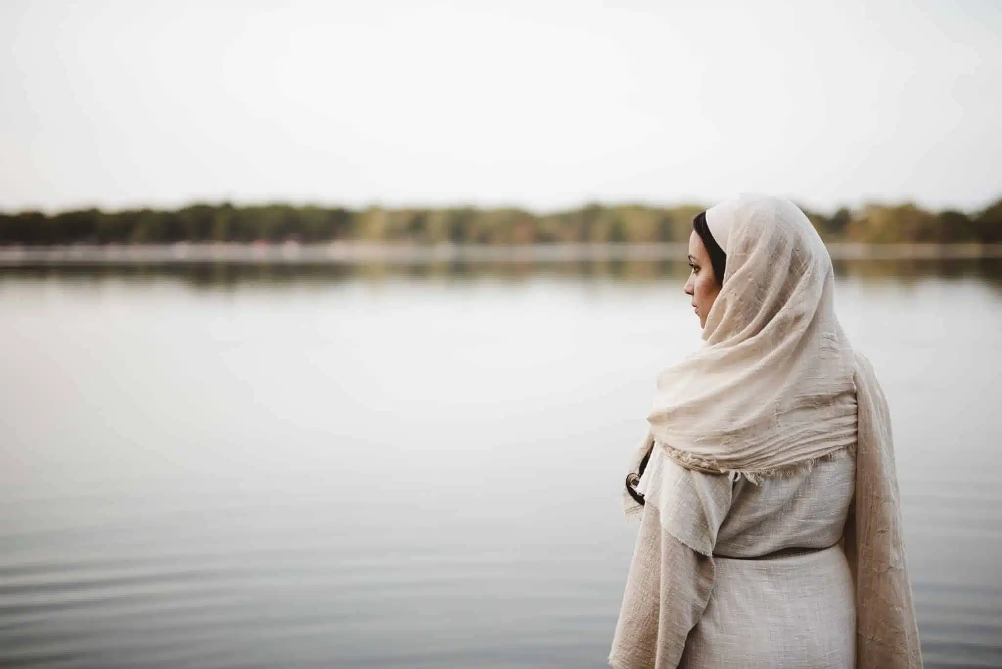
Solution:
[(921, 667), (887, 403), (793, 203), (695, 218), (705, 344), (657, 379), (627, 476), (641, 514), (609, 663)]

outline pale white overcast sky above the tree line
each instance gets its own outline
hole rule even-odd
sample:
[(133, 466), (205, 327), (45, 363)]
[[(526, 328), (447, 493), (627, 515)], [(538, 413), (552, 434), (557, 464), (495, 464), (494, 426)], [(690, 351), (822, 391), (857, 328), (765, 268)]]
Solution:
[(0, 0), (0, 210), (1002, 196), (995, 0)]

